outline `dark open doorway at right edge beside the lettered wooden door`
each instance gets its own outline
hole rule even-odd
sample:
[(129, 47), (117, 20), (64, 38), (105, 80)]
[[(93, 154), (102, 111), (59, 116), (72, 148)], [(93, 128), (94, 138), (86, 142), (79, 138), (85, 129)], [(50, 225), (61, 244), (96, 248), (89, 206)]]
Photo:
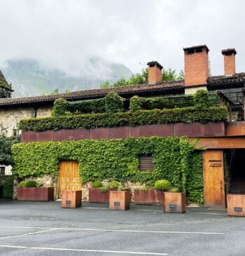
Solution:
[(225, 190), (245, 194), (245, 149), (225, 150)]

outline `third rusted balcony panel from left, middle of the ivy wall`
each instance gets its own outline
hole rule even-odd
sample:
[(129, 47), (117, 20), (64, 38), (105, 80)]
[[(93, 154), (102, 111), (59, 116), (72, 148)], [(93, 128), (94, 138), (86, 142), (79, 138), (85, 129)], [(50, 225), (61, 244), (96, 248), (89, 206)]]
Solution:
[(90, 129), (90, 139), (125, 139), (130, 136), (130, 128), (128, 126), (120, 126), (113, 128), (92, 128)]

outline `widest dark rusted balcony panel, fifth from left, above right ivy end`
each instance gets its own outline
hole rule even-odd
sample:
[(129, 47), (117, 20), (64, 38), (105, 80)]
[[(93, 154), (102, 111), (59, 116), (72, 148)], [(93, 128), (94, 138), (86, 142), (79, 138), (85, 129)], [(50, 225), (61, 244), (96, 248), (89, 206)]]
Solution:
[(174, 123), (174, 136), (221, 137), (225, 135), (225, 123)]

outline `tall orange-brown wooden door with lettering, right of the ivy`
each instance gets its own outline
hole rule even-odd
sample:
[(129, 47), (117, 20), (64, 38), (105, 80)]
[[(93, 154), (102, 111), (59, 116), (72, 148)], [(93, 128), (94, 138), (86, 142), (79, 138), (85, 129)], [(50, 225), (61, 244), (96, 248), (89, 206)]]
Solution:
[(222, 150), (207, 150), (202, 153), (204, 204), (225, 206), (224, 164)]

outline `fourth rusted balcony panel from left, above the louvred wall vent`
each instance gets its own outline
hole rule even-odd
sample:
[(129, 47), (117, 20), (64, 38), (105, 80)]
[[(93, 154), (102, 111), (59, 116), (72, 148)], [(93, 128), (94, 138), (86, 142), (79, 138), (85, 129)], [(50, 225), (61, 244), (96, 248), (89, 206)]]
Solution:
[(174, 135), (173, 127), (173, 123), (130, 127), (130, 137), (171, 137)]

